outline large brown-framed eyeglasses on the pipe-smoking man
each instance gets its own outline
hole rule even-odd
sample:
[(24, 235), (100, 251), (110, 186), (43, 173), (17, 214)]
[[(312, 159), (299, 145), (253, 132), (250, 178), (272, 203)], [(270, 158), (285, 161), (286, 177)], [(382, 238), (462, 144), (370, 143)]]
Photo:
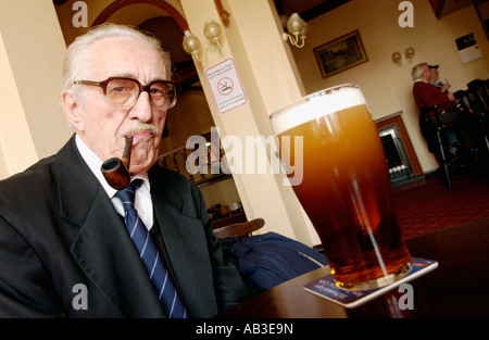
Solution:
[(176, 104), (176, 86), (168, 80), (154, 80), (143, 86), (136, 79), (110, 77), (103, 81), (76, 80), (74, 84), (101, 87), (105, 103), (113, 106), (133, 106), (142, 91), (148, 92), (158, 109), (172, 109)]

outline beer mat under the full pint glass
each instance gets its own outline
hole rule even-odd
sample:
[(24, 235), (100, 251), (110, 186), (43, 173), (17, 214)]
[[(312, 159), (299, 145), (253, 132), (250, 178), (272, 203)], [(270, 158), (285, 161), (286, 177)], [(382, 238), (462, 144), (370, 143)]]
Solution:
[(331, 274), (328, 274), (305, 285), (303, 288), (313, 294), (319, 295), (343, 307), (354, 308), (438, 267), (438, 262), (434, 260), (418, 257), (413, 257), (412, 260), (413, 267), (410, 273), (400, 280), (385, 287), (364, 291), (347, 291), (338, 288), (335, 285)]

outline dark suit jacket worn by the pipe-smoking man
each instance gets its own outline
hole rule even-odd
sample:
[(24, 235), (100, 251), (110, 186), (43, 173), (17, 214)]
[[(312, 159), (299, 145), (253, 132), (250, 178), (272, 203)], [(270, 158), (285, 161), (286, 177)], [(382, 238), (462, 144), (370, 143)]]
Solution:
[[(211, 317), (246, 298), (212, 236), (200, 190), (158, 165), (149, 178), (190, 315)], [(124, 222), (74, 138), (0, 181), (0, 316), (164, 317)]]

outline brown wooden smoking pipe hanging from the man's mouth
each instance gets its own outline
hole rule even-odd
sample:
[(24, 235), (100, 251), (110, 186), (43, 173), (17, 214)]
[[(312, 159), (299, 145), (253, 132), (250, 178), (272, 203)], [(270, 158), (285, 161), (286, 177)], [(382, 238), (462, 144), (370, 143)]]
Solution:
[(126, 138), (122, 160), (112, 158), (103, 162), (100, 171), (106, 182), (116, 190), (127, 188), (130, 182), (129, 163), (130, 149), (133, 147), (133, 137)]

